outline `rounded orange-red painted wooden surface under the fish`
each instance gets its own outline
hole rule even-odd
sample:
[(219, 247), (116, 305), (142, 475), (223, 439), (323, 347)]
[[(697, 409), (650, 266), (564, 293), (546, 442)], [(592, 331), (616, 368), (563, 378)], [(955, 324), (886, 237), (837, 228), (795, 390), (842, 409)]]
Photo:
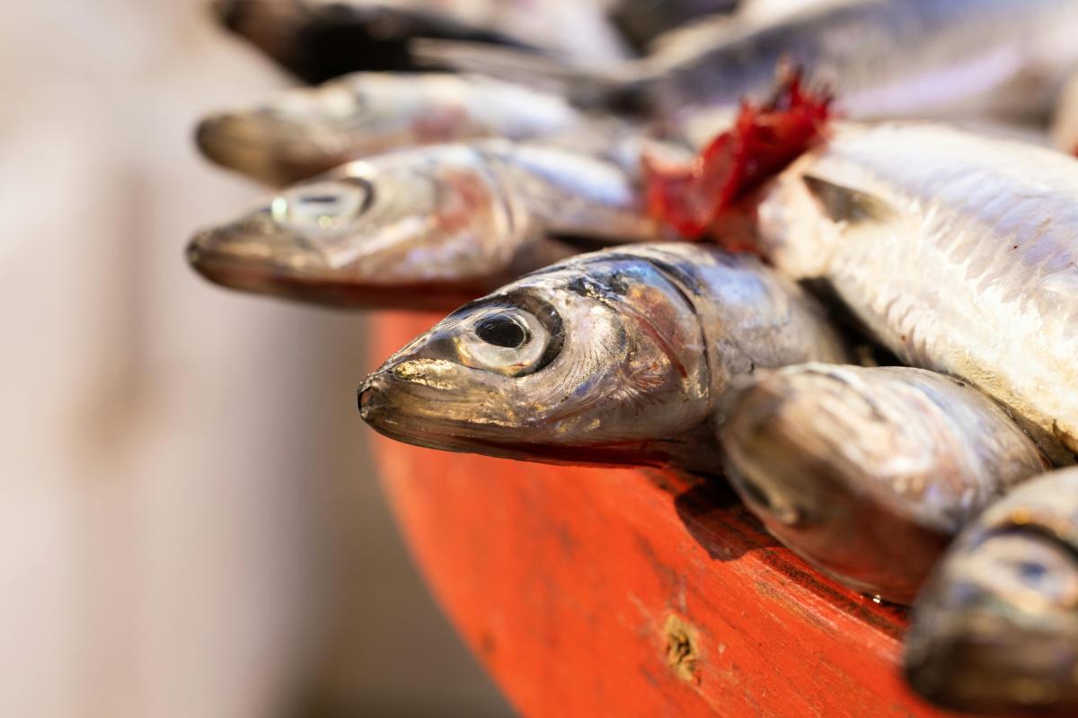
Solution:
[[(437, 319), (377, 316), (374, 358)], [(817, 574), (723, 490), (373, 444), (431, 590), (525, 715), (944, 715), (901, 684), (902, 613)]]

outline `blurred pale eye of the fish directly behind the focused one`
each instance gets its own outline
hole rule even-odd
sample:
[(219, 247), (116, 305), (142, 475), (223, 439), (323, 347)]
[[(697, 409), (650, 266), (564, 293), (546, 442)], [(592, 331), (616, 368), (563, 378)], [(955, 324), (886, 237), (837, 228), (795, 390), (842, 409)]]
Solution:
[(333, 237), (370, 205), (372, 193), (364, 182), (313, 182), (278, 195), (270, 205), (277, 224), (315, 238)]

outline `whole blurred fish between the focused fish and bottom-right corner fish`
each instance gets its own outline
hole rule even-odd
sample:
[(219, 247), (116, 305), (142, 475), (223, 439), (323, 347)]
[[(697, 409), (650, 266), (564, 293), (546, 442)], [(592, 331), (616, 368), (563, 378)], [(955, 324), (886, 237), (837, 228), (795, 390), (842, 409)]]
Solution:
[(718, 433), (727, 477), (773, 536), (898, 604), (980, 511), (1051, 468), (984, 394), (911, 367), (757, 371)]

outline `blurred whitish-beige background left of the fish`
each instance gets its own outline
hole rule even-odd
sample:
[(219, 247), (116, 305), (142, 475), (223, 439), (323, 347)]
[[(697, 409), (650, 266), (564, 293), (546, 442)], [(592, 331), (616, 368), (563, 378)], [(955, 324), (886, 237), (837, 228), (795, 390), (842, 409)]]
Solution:
[(199, 0), (0, 24), (0, 715), (505, 715), (377, 489), (362, 316), (182, 261), (263, 192), (196, 117), (286, 79)]

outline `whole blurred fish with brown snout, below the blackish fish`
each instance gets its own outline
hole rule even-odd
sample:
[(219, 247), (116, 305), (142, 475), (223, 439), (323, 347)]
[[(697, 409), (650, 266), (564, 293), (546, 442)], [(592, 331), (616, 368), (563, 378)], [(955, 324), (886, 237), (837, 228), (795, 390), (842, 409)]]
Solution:
[(480, 75), (357, 72), (204, 118), (203, 155), (284, 186), (391, 150), (564, 135), (584, 117), (564, 98)]

